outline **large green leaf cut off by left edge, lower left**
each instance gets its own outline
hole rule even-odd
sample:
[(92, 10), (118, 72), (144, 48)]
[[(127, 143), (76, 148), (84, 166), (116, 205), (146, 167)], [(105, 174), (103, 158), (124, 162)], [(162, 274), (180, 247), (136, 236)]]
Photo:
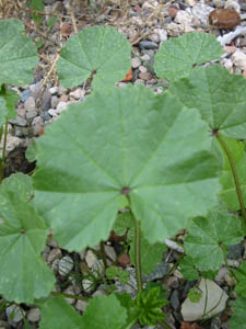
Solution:
[(30, 203), (31, 181), (17, 173), (0, 185), (0, 293), (26, 304), (47, 296), (55, 284), (40, 257), (47, 228)]

